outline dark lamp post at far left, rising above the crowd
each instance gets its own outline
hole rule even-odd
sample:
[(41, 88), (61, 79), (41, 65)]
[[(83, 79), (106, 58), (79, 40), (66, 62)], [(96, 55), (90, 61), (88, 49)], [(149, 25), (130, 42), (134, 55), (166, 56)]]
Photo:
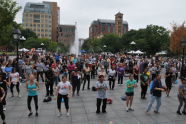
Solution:
[(20, 41), (20, 38), (21, 38), (21, 31), (19, 29), (14, 29), (13, 30), (13, 39), (14, 41), (16, 42), (16, 52), (17, 52), (17, 65), (16, 65), (16, 69), (18, 71), (19, 69), (19, 41)]

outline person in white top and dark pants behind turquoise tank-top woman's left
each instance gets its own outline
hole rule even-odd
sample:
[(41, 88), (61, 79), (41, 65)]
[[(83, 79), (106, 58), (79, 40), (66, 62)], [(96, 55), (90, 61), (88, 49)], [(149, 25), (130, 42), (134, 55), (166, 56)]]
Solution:
[(14, 97), (14, 92), (13, 92), (14, 91), (14, 86), (16, 86), (18, 96), (21, 97), (20, 94), (19, 94), (19, 92), (20, 92), (20, 90), (19, 90), (19, 85), (20, 85), (20, 83), (19, 83), (19, 73), (16, 71), (15, 68), (13, 68), (12, 73), (10, 73), (9, 80), (11, 82), (10, 91), (12, 93), (12, 97)]

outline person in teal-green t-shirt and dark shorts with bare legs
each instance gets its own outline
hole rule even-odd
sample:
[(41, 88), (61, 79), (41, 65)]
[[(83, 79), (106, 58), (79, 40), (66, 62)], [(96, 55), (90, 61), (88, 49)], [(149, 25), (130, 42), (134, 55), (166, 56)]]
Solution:
[(133, 96), (134, 96), (134, 88), (137, 87), (137, 81), (134, 80), (134, 76), (131, 74), (129, 76), (129, 80), (126, 81), (126, 88), (125, 88), (125, 94), (127, 96), (126, 99), (126, 111), (134, 111), (132, 109), (132, 102), (133, 102)]

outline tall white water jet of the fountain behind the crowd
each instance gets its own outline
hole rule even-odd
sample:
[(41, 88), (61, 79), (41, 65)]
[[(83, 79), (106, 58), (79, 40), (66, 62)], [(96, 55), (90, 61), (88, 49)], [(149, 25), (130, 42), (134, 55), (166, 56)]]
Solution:
[(75, 23), (75, 39), (74, 39), (72, 46), (70, 47), (70, 54), (74, 54), (76, 56), (78, 56), (78, 54), (79, 54), (79, 40), (78, 40), (78, 35), (77, 35), (77, 23)]

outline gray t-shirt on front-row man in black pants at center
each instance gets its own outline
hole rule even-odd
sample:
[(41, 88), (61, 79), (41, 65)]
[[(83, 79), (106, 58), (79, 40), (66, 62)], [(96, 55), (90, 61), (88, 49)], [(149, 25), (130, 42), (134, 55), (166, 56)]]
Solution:
[(100, 83), (99, 81), (96, 83), (96, 88), (98, 88), (98, 96), (97, 98), (105, 99), (107, 98), (107, 92), (106, 89), (109, 88), (108, 82), (104, 81), (103, 83)]

